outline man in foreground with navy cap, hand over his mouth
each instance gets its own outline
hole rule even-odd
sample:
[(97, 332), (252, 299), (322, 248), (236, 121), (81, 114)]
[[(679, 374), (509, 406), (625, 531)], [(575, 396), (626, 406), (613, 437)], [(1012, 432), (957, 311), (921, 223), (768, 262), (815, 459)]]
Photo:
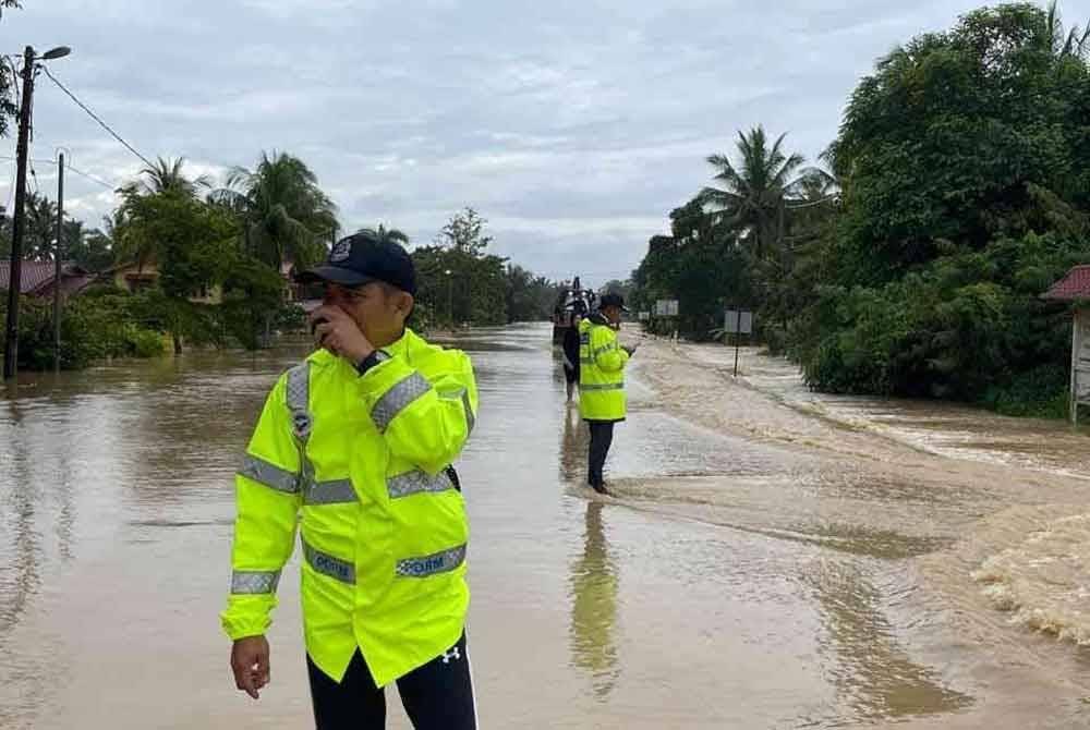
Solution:
[(416, 279), (398, 244), (358, 233), (300, 280), (325, 287), (319, 349), (272, 388), (235, 479), (222, 613), (235, 684), (255, 699), (268, 684), (265, 633), (299, 525), (316, 727), (385, 727), (396, 682), (417, 730), (473, 730), (451, 465), (476, 418), (473, 367), (405, 327)]

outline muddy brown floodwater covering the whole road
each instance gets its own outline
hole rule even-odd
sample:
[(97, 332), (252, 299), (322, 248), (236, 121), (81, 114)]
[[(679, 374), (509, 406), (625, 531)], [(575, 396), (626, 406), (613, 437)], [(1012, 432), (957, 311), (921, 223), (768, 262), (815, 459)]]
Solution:
[[(1090, 727), (1086, 437), (815, 397), (754, 353), (736, 382), (724, 350), (647, 341), (598, 499), (548, 329), (458, 346), (483, 727)], [(0, 400), (0, 728), (311, 727), (298, 569), (259, 702), (218, 623), (231, 477), (301, 354)]]

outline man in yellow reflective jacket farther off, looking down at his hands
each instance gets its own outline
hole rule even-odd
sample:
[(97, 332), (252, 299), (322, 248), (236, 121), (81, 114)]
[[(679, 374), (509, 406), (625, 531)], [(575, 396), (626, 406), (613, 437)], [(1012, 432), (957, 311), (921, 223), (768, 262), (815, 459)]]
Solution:
[(621, 313), (628, 312), (620, 294), (604, 294), (598, 311), (579, 324), (579, 412), (591, 429), (586, 483), (608, 495), (603, 470), (613, 445), (614, 424), (628, 416), (625, 366), (635, 348), (617, 341)]

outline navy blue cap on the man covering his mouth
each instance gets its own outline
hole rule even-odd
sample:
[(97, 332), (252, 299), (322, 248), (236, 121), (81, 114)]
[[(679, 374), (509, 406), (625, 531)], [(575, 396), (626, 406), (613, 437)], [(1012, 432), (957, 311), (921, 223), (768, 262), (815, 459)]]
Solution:
[(416, 267), (412, 256), (393, 241), (382, 241), (375, 233), (361, 231), (334, 244), (323, 266), (295, 276), (299, 283), (328, 282), (362, 287), (382, 281), (401, 291), (416, 294)]

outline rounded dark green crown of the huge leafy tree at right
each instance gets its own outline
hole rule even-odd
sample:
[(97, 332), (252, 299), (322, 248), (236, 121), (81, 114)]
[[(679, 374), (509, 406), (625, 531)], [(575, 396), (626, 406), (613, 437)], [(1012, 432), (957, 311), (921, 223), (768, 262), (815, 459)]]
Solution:
[(879, 283), (996, 235), (1046, 228), (1054, 193), (1085, 206), (1086, 64), (1055, 54), (1030, 4), (916, 38), (860, 84), (832, 147), (844, 183), (841, 280)]

